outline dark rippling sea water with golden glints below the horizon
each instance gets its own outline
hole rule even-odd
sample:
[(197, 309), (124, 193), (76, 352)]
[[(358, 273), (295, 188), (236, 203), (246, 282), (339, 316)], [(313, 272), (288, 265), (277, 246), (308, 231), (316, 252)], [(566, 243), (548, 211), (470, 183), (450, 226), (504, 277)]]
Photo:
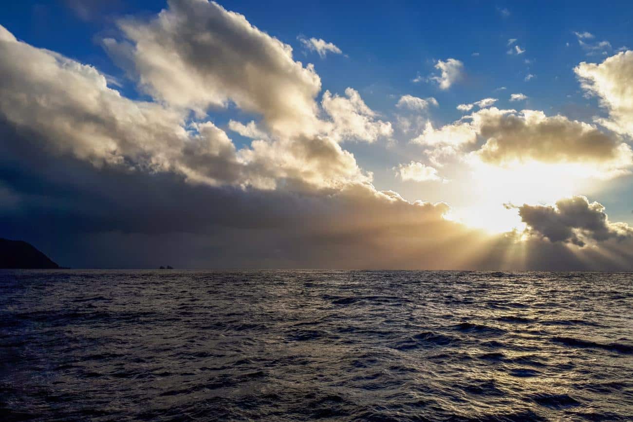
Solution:
[(633, 420), (633, 274), (0, 272), (0, 419)]

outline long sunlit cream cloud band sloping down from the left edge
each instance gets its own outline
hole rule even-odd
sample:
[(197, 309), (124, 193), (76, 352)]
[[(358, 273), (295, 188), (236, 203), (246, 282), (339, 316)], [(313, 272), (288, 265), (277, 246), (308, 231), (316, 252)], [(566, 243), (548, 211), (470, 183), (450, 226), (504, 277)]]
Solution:
[(367, 180), (353, 155), (327, 135), (274, 137), (238, 151), (210, 121), (187, 121), (186, 111), (127, 99), (95, 68), (18, 42), (4, 28), (0, 52), (1, 115), (53, 155), (210, 185), (275, 189), (283, 181), (303, 189)]

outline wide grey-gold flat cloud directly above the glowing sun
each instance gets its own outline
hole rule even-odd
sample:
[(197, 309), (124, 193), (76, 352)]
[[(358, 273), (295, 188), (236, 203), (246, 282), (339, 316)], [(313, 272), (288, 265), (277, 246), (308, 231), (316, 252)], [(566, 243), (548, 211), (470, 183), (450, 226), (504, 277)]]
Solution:
[(482, 144), (472, 154), (498, 166), (530, 161), (587, 164), (595, 175), (608, 178), (628, 172), (633, 165), (630, 146), (617, 135), (536, 110), (480, 109), (438, 129), (429, 122), (424, 132), (411, 140), (459, 149), (479, 141)]

